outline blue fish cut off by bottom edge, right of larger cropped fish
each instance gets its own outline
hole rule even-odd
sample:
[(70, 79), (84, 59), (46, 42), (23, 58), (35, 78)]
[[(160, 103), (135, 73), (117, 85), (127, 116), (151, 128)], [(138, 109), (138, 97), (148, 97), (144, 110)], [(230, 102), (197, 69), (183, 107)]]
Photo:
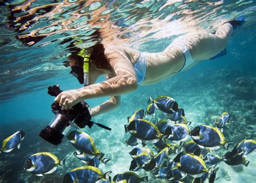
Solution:
[(136, 173), (133, 172), (123, 172), (123, 173), (118, 173), (114, 175), (113, 181), (114, 182), (119, 182), (122, 180), (126, 180), (127, 182), (132, 182), (132, 183), (139, 183), (139, 182), (147, 182), (148, 177), (139, 177)]

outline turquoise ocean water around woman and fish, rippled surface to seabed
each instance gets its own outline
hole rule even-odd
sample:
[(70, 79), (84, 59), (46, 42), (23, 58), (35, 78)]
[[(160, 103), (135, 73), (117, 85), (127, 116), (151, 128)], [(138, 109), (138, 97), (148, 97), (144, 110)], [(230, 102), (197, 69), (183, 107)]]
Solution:
[[(70, 54), (68, 39), (82, 39), (85, 47), (92, 45), (91, 33), (103, 24), (115, 28), (106, 35), (113, 45), (122, 42), (140, 51), (159, 52), (187, 32), (213, 32), (228, 19), (246, 18), (228, 41), (226, 56), (202, 60), (190, 70), (163, 82), (139, 86), (138, 90), (124, 94), (118, 109), (93, 118), (112, 131), (96, 125), (82, 129), (91, 135), (105, 158), (111, 159), (106, 165), (101, 163), (100, 170), (112, 171), (112, 178), (129, 171), (132, 160), (129, 152), (133, 147), (123, 143), (129, 138), (124, 125), (134, 111), (146, 110), (149, 96), (174, 98), (185, 110), (186, 118), (192, 121), (189, 128), (210, 125), (221, 113), (228, 112), (230, 125), (224, 128), (228, 141), (237, 144), (245, 138), (256, 139), (255, 8), (255, 1), (1, 2), (0, 141), (18, 130), (25, 131), (26, 136), (19, 150), (15, 148), (10, 153), (0, 154), (0, 182), (60, 182), (73, 168), (85, 166), (73, 155), (75, 148), (68, 139), (64, 137), (63, 142), (55, 146), (39, 137), (39, 133), (54, 117), (51, 112), (54, 97), (48, 95), (48, 86), (59, 84), (62, 90), (82, 87), (69, 74), (70, 68), (62, 64)], [(101, 77), (98, 82), (102, 80)], [(106, 99), (86, 102), (93, 107)], [(26, 158), (37, 152), (68, 157), (66, 166), (59, 166), (43, 177), (26, 172), (23, 170)], [(219, 155), (225, 152), (223, 147), (216, 151)], [(255, 152), (248, 154), (246, 160), (250, 161), (247, 167), (221, 162), (216, 176), (219, 179), (215, 182), (254, 182)], [(135, 173), (148, 176), (149, 182), (170, 182), (144, 170)]]

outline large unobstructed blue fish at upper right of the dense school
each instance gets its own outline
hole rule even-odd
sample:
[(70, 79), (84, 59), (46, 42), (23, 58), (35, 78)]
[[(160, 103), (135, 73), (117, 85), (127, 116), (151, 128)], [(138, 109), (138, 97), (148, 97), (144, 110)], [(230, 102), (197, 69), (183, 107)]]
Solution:
[(214, 128), (212, 126), (196, 126), (190, 131), (190, 135), (195, 143), (208, 147), (212, 150), (217, 150), (220, 145), (228, 148), (231, 144), (227, 143), (223, 133), (218, 128)]

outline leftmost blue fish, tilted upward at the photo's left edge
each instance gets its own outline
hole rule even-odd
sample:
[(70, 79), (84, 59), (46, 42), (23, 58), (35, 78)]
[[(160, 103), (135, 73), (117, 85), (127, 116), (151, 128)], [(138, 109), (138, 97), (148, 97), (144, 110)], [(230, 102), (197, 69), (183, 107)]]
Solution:
[(0, 153), (11, 152), (12, 150), (14, 150), (15, 147), (19, 149), (19, 147), (21, 147), (21, 141), (24, 139), (25, 134), (25, 132), (20, 130), (12, 134), (10, 137), (4, 139), (2, 148), (0, 148)]

